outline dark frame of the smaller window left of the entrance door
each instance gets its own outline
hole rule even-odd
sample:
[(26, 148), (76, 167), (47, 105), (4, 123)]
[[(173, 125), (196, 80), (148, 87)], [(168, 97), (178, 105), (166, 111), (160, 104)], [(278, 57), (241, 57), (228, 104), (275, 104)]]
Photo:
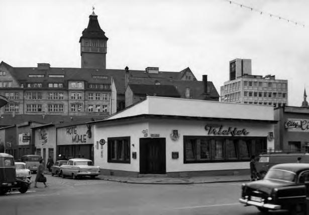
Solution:
[[(125, 156), (127, 155), (128, 160), (118, 160), (118, 153), (116, 152), (116, 157), (117, 159), (114, 160), (112, 159), (112, 147), (111, 144), (113, 141), (122, 141), (126, 140), (127, 141), (127, 147), (124, 148), (124, 154)], [(118, 147), (117, 147), (118, 148)], [(126, 150), (128, 150), (126, 152)], [(110, 137), (108, 138), (108, 163), (131, 163), (131, 137), (126, 136), (126, 137)]]

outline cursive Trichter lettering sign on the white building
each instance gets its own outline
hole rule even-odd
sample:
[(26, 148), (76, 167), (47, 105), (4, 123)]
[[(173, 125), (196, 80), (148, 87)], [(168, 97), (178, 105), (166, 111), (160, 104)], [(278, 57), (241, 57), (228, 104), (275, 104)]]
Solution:
[(231, 135), (231, 136), (241, 136), (241, 135), (248, 135), (249, 132), (246, 129), (238, 129), (229, 127), (228, 129), (223, 129), (223, 126), (217, 125), (206, 125), (205, 130), (208, 131), (208, 135)]

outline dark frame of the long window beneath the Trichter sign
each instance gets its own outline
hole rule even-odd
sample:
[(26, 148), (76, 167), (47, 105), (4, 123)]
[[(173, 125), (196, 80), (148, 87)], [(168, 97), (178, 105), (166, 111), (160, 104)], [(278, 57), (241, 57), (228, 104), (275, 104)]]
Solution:
[[(204, 141), (210, 141), (210, 154), (211, 159), (210, 160), (186, 160), (186, 141), (192, 140), (192, 139), (201, 139)], [(215, 141), (223, 141), (223, 159), (214, 159), (214, 143)], [(237, 159), (228, 159), (227, 158), (227, 152), (226, 152), (226, 145), (228, 140), (242, 140), (245, 142), (245, 144), (248, 146), (248, 157), (241, 157), (241, 150), (240, 150), (240, 141), (237, 143), (236, 148), (236, 154)], [(248, 143), (250, 141), (250, 143)], [(262, 148), (260, 151), (257, 150), (256, 144), (259, 144), (259, 146)], [(197, 148), (197, 147), (195, 147)], [(224, 163), (224, 162), (244, 162), (244, 161), (250, 161), (251, 155), (258, 156), (260, 153), (264, 152), (264, 150), (267, 149), (267, 137), (231, 137), (231, 136), (183, 136), (183, 163)], [(197, 151), (196, 151), (197, 152)], [(195, 152), (195, 153), (196, 153)], [(197, 154), (196, 154), (197, 157)]]

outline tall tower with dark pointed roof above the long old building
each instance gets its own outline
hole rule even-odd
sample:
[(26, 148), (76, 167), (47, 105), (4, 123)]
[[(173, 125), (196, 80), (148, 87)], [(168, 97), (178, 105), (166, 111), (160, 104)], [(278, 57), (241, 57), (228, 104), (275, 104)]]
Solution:
[(81, 68), (106, 69), (108, 39), (98, 24), (97, 15), (92, 11), (88, 27), (82, 31), (79, 39)]

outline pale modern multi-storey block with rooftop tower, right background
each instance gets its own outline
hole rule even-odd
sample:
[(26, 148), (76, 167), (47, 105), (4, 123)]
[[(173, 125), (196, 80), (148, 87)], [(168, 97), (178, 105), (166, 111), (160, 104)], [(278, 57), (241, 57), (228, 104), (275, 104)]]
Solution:
[(275, 75), (252, 75), (250, 59), (230, 61), (230, 80), (221, 86), (221, 101), (273, 105), (287, 105), (287, 80)]

